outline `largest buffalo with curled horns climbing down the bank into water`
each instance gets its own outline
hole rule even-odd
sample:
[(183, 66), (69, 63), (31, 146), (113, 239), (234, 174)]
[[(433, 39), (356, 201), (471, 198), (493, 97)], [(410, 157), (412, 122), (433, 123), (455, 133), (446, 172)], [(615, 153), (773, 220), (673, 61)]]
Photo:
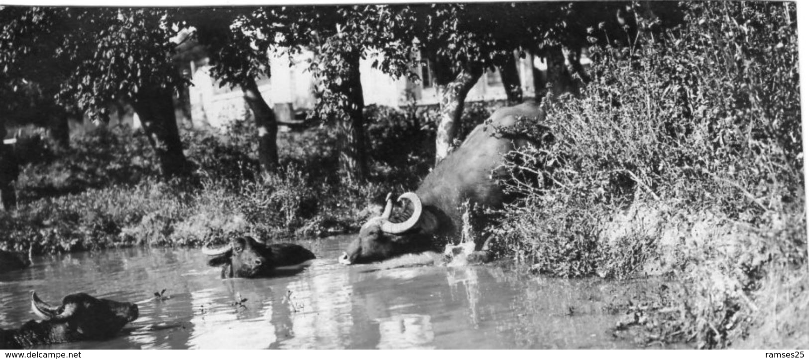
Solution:
[[(503, 175), (506, 153), (533, 141), (527, 136), (507, 135), (497, 128), (515, 125), (519, 119), (544, 120), (544, 111), (535, 102), (502, 107), (475, 127), (464, 143), (438, 163), (415, 192), (402, 194), (411, 215), (400, 223), (391, 220), (392, 200), (383, 214), (369, 219), (360, 228), (339, 258), (343, 264), (368, 263), (436, 249), (435, 238), (445, 243), (461, 232), (464, 203), (472, 207), (502, 208), (512, 198), (493, 175)], [(479, 240), (477, 242), (483, 242)], [(488, 243), (476, 243), (478, 256), (487, 257)]]

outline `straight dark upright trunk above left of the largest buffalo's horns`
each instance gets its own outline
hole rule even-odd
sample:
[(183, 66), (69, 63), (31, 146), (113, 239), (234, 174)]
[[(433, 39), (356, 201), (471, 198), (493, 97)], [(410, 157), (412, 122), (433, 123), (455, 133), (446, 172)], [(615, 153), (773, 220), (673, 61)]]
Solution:
[(337, 86), (339, 94), (345, 94), (348, 99), (342, 111), (345, 117), (338, 125), (341, 132), (340, 165), (351, 181), (364, 182), (368, 177), (368, 156), (365, 146), (365, 118), (362, 115), (365, 98), (362, 97), (360, 81), (360, 53), (349, 52), (344, 54), (344, 58), (347, 72), (341, 85)]

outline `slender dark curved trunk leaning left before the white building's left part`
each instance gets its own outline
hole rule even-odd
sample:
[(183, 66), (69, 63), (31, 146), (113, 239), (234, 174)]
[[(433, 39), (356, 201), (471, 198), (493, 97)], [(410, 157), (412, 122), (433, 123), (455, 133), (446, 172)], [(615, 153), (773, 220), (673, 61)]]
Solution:
[(248, 78), (241, 87), (244, 101), (248, 102), (253, 118), (256, 119), (258, 161), (261, 164), (261, 175), (268, 178), (269, 175), (276, 173), (278, 169), (278, 145), (276, 143), (278, 122), (275, 118), (275, 112), (269, 107), (264, 97), (261, 96), (255, 79)]

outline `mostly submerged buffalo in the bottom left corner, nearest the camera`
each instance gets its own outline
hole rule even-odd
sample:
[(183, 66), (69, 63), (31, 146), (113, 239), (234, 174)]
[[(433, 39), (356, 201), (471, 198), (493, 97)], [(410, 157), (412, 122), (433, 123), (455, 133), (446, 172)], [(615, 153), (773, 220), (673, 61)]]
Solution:
[(44, 320), (29, 320), (19, 329), (0, 329), (0, 349), (108, 339), (127, 323), (138, 319), (136, 304), (99, 299), (84, 293), (66, 296), (57, 307), (44, 303), (32, 292), (31, 307)]

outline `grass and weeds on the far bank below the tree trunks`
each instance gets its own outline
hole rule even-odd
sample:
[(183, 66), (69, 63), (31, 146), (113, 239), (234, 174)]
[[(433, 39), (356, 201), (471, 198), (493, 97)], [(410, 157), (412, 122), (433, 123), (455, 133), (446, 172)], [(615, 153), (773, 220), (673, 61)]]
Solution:
[[(480, 123), (493, 103), (471, 106)], [(184, 131), (192, 178), (163, 182), (146, 138), (126, 127), (100, 127), (21, 151), (19, 206), (0, 212), (0, 249), (62, 253), (132, 245), (196, 246), (248, 234), (265, 240), (356, 232), (379, 214), (388, 192), (412, 190), (434, 156), (434, 109), (368, 106), (371, 179), (345, 182), (333, 129), (282, 132), (282, 169), (257, 180), (250, 119), (226, 131)], [(472, 118), (471, 116), (477, 116)]]

